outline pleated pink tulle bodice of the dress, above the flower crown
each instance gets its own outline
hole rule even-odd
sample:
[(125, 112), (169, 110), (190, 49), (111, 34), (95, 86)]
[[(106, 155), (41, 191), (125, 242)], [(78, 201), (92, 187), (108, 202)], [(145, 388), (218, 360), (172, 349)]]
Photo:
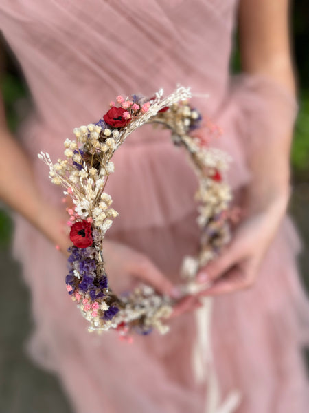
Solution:
[(148, 96), (177, 83), (211, 94), (227, 86), (236, 0), (2, 0), (0, 28), (41, 120), (68, 131), (117, 94)]

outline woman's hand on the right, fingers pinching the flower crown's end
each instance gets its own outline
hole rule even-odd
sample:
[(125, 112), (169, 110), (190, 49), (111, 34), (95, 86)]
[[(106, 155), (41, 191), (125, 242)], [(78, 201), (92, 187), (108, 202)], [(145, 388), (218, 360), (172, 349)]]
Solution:
[(252, 201), (254, 211), (247, 213), (229, 246), (198, 273), (198, 282), (205, 284), (205, 291), (199, 296), (233, 293), (253, 286), (286, 211), (288, 195), (280, 195), (263, 207), (258, 206), (263, 203), (261, 200)]

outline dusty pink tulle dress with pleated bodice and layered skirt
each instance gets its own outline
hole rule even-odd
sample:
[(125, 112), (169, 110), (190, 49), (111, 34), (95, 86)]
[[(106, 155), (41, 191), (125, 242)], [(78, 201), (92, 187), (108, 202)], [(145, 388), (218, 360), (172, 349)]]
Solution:
[[(47, 200), (61, 207), (62, 191), (38, 152), (60, 158), (73, 127), (97, 121), (118, 94), (168, 93), (176, 83), (209, 94), (194, 104), (222, 127), (216, 145), (233, 157), (229, 180), (242, 193), (248, 153), (267, 147), (268, 136), (280, 139), (296, 105), (268, 78), (229, 75), (237, 7), (237, 0), (1, 0), (0, 28), (35, 104), (20, 135)], [(197, 182), (185, 154), (169, 134), (144, 127), (113, 160), (106, 191), (120, 215), (108, 236), (176, 282), (183, 255), (198, 245)], [(21, 218), (14, 248), (32, 292), (36, 327), (27, 347), (58, 374), (75, 412), (308, 412), (300, 352), (308, 304), (288, 220), (253, 288), (207, 301), (199, 313), (174, 319), (168, 335), (137, 336), (132, 345), (113, 332), (87, 332), (65, 289), (65, 257)]]

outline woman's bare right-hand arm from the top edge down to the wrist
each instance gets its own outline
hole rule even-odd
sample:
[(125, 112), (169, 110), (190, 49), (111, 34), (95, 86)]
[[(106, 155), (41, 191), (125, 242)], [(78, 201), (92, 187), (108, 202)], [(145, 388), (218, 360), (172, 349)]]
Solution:
[(254, 143), (248, 157), (252, 176), (249, 198), (255, 202), (257, 198), (263, 202), (280, 197), (284, 200), (290, 186), (290, 145), (296, 113), (288, 1), (242, 0), (239, 21), (242, 69), (266, 79), (258, 90), (264, 99), (260, 125), (251, 131)]

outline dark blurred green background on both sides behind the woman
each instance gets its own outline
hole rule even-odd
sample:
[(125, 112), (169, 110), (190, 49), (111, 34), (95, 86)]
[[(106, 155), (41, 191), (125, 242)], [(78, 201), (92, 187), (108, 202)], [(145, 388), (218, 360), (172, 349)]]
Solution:
[[(293, 196), (290, 214), (293, 216), (303, 240), (303, 253), (299, 264), (304, 282), (309, 286), (309, 4), (297, 0), (291, 13), (293, 49), (299, 81), (299, 115), (291, 153), (293, 167)], [(19, 122), (29, 109), (29, 94), (19, 73), (18, 65), (10, 52), (4, 56), (1, 89), (5, 101), (8, 124), (16, 131)], [(231, 67), (239, 70), (239, 53), (235, 48)], [(0, 412), (5, 413), (69, 413), (71, 407), (60, 388), (58, 380), (43, 372), (25, 356), (23, 343), (33, 323), (30, 316), (29, 291), (20, 277), (20, 268), (10, 258), (12, 220), (8, 209), (0, 204), (0, 370), (5, 381), (0, 381)], [(14, 292), (14, 296), (13, 293)], [(5, 302), (18, 300), (19, 306), (10, 308)], [(21, 320), (23, 321), (21, 323)], [(22, 324), (22, 325), (21, 325)], [(21, 326), (16, 329), (16, 325)], [(262, 413), (262, 412), (261, 412)], [(291, 412), (292, 413), (292, 412)], [(296, 412), (295, 412), (296, 413)]]

